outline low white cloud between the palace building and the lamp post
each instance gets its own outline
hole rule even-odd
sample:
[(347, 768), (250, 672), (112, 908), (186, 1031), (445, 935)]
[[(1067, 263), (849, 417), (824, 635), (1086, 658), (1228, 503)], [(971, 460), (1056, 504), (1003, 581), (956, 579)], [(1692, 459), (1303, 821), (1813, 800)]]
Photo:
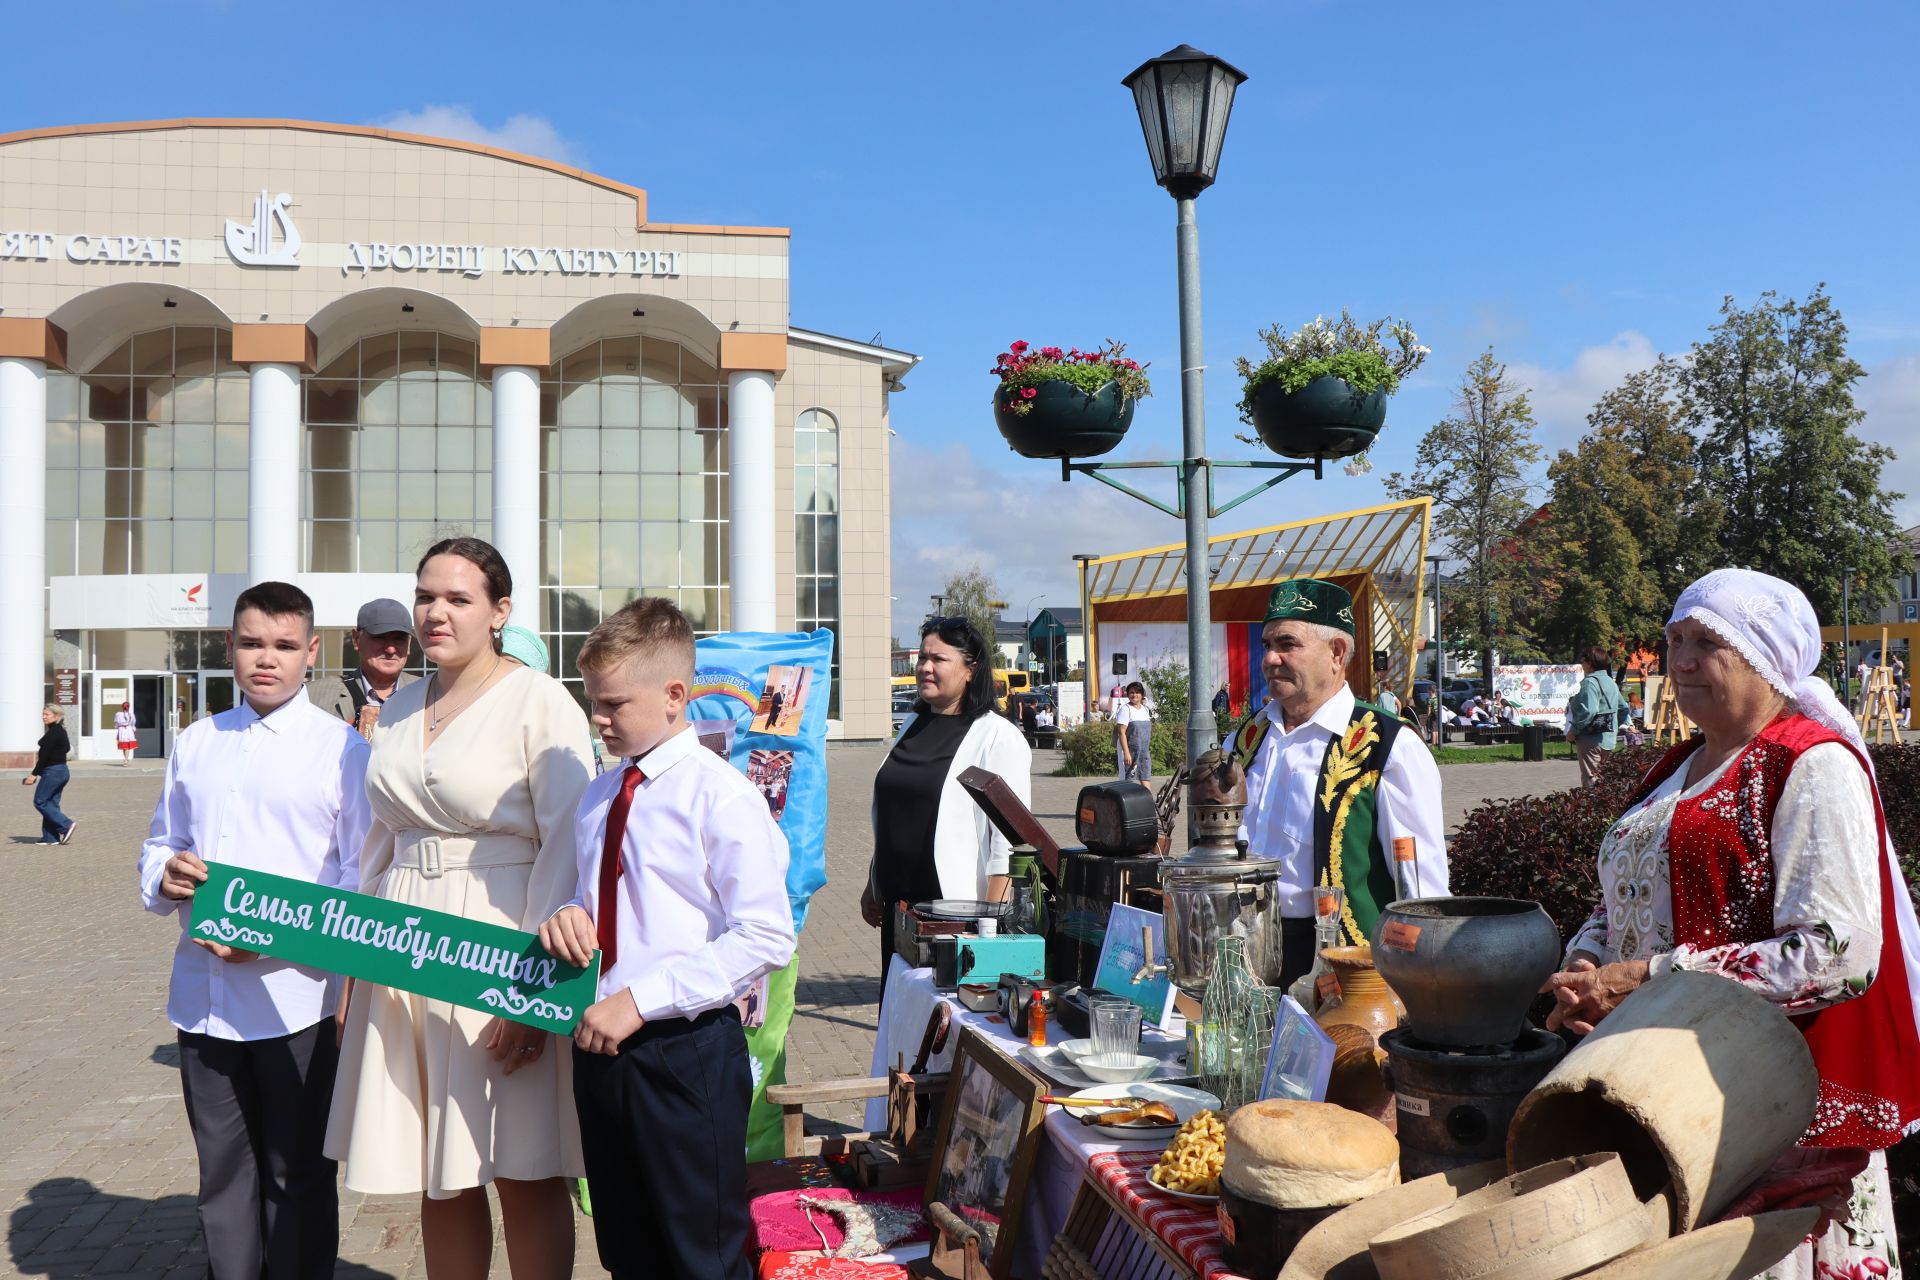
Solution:
[[(1171, 501), (1171, 472), (1131, 472), (1142, 491)], [(1046, 606), (1079, 608), (1079, 551), (1112, 555), (1185, 537), (1173, 516), (1075, 476), (1058, 462), (968, 445), (931, 449), (904, 436), (893, 447), (893, 633), (920, 629), (947, 576), (979, 564), (1008, 603), (1008, 618)]]

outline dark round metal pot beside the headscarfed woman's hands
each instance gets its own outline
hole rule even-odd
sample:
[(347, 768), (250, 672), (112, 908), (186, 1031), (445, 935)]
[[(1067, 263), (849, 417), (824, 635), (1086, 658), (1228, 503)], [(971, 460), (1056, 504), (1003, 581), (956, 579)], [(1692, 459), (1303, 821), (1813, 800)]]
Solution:
[(1434, 1048), (1513, 1044), (1559, 956), (1553, 919), (1519, 898), (1409, 898), (1373, 925), (1373, 961)]

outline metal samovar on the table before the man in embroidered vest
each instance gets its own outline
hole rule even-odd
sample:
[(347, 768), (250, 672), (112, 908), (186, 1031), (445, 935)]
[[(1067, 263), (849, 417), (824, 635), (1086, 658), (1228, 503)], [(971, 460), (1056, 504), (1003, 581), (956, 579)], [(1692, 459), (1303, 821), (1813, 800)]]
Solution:
[(1246, 940), (1246, 967), (1265, 986), (1281, 983), (1281, 862), (1248, 858), (1238, 841), (1246, 773), (1213, 747), (1187, 783), (1190, 848), (1160, 865), (1167, 912), (1167, 967), (1194, 1000), (1213, 977), (1213, 944)]

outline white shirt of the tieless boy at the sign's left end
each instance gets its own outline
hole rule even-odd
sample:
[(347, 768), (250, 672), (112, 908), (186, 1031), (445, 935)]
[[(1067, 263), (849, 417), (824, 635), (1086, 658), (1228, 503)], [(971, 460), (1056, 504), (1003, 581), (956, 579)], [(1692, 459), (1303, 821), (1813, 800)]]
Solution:
[[(167, 858), (192, 850), (273, 875), (359, 887), (367, 839), (367, 743), (307, 691), (267, 716), (240, 700), (196, 720), (173, 743), (167, 781), (140, 846), (140, 902), (179, 913), (167, 1021), (219, 1040), (267, 1040), (332, 1015), (340, 979), (261, 956), (227, 961), (188, 942), (192, 904), (159, 892)], [(180, 910), (180, 908), (186, 910)]]

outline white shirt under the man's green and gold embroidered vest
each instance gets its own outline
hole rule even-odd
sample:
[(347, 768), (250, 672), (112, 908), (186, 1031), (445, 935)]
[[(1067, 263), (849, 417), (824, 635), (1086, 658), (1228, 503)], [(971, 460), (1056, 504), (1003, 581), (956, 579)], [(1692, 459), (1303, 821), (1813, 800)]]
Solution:
[[(1319, 806), (1321, 764), (1327, 747), (1346, 733), (1354, 718), (1354, 691), (1340, 685), (1292, 733), (1281, 720), (1279, 700), (1267, 702), (1263, 714), (1273, 727), (1246, 770), (1240, 839), (1254, 856), (1281, 860), (1281, 915), (1308, 919), (1313, 915), (1313, 810)], [(1396, 837), (1413, 837), (1413, 862), (1392, 867), (1394, 883), (1409, 898), (1434, 898), (1448, 890), (1444, 821), (1440, 768), (1421, 735), (1402, 729), (1375, 789), (1375, 833), (1382, 850), (1390, 850)]]

